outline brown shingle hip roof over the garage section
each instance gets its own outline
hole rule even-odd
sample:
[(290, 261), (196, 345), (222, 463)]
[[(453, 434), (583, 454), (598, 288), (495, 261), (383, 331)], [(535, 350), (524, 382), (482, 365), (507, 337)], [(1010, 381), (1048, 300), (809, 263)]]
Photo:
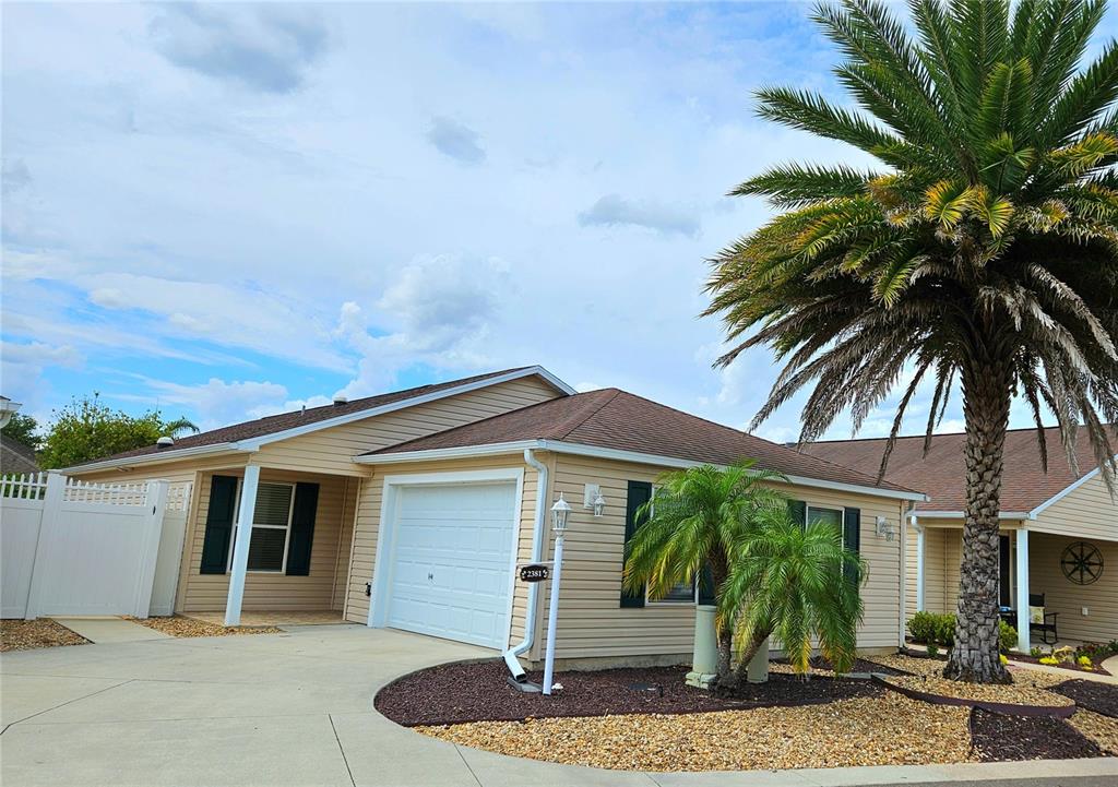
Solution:
[(786, 475), (858, 486), (880, 486), (898, 492), (912, 491), (888, 482), (878, 484), (864, 473), (840, 467), (616, 388), (531, 405), (369, 452), (366, 456), (533, 439), (577, 443), (711, 464), (730, 464), (748, 457), (756, 459), (761, 467)]

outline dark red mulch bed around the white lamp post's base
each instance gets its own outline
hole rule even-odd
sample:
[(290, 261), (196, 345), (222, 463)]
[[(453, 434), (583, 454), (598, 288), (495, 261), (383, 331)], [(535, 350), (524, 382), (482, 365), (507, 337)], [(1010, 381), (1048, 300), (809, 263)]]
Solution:
[[(524, 694), (505, 682), (503, 662), (445, 664), (405, 675), (377, 694), (373, 704), (398, 724), (457, 724), (520, 721), (525, 718), (595, 717), (615, 713), (701, 713), (767, 705), (831, 702), (880, 696), (869, 681), (770, 674), (767, 683), (746, 684), (733, 696), (684, 684), (686, 667), (639, 667), (556, 673), (562, 691)], [(529, 680), (540, 682), (539, 673)], [(648, 689), (634, 689), (643, 684)]]

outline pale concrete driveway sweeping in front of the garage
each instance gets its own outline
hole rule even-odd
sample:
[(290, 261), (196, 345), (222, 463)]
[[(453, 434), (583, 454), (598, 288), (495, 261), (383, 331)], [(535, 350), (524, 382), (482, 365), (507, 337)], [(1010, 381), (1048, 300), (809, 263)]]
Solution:
[[(495, 655), (361, 626), (0, 656), (0, 781), (34, 785), (884, 785), (1020, 778), (1020, 765), (634, 774), (455, 747), (372, 710), (398, 675)], [(1118, 761), (1030, 764), (1032, 784), (1112, 785)], [(1079, 778), (1077, 778), (1079, 777)], [(991, 783), (993, 784), (993, 783)]]

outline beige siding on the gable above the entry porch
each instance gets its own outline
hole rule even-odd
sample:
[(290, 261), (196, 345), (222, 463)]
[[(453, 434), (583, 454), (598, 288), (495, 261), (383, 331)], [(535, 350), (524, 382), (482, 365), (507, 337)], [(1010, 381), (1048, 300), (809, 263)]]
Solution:
[(253, 462), (267, 467), (315, 470), (363, 476), (352, 457), (396, 443), (443, 432), (560, 396), (539, 378), (502, 382), (446, 399), (386, 413), (343, 426), (265, 445)]

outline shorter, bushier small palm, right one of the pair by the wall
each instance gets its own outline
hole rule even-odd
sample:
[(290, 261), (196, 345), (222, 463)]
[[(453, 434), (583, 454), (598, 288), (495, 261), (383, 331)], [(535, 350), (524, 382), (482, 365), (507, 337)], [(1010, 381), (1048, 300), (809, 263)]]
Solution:
[(759, 512), (745, 533), (723, 588), (722, 614), (736, 622), (738, 679), (765, 641), (780, 641), (793, 670), (807, 672), (813, 641), (837, 672), (854, 666), (859, 592), (865, 565), (834, 524), (806, 528), (778, 509)]

